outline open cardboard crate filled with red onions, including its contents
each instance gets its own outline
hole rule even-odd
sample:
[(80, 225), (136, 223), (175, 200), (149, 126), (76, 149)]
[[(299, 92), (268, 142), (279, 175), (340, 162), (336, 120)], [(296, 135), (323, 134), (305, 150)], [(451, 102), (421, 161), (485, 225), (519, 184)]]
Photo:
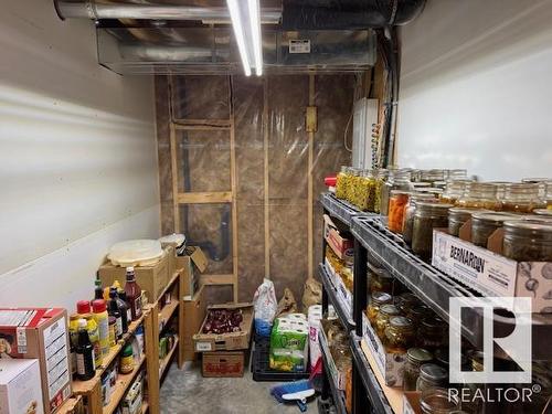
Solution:
[(225, 304), (208, 307), (200, 331), (193, 336), (195, 352), (250, 348), (253, 304)]

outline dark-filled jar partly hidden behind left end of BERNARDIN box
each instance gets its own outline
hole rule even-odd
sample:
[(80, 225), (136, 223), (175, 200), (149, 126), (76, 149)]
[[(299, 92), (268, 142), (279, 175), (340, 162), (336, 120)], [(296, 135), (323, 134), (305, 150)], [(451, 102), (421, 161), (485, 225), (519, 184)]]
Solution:
[(417, 202), (412, 231), (412, 251), (427, 261), (433, 252), (433, 229), (448, 227), (448, 209), (453, 204)]

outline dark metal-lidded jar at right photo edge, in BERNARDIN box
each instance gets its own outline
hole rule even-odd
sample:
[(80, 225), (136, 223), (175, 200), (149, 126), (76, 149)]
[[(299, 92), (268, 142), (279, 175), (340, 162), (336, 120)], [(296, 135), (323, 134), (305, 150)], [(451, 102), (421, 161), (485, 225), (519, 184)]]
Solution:
[(502, 254), (517, 262), (552, 262), (552, 223), (506, 221)]

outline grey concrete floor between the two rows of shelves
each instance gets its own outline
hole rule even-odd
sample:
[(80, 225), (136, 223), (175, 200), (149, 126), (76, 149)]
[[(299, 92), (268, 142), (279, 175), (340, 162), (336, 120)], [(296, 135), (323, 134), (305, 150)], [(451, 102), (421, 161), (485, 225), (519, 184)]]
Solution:
[[(203, 378), (201, 365), (170, 368), (161, 386), (162, 414), (300, 414), (296, 404), (279, 404), (272, 395), (276, 383), (255, 382), (251, 370), (243, 378)], [(307, 413), (318, 413), (316, 399)]]

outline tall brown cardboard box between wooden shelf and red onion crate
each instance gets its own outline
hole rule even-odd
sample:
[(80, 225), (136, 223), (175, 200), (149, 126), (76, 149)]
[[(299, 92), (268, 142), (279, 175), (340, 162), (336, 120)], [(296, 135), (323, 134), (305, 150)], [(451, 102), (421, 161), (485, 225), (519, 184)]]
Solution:
[(183, 353), (184, 361), (193, 361), (198, 357), (193, 343), (193, 336), (200, 331), (206, 315), (204, 287), (201, 286), (193, 296), (193, 299), (184, 300), (182, 305), (180, 323), (182, 323), (181, 331), (183, 336), (181, 338), (182, 347), (180, 347), (180, 349)]

